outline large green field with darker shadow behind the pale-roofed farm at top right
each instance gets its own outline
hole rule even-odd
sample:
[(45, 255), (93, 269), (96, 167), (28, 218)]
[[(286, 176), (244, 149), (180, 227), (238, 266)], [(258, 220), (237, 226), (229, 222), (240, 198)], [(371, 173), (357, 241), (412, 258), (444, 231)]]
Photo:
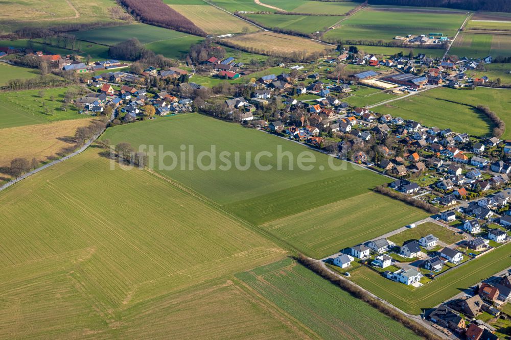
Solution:
[(325, 34), (330, 40), (392, 40), (395, 36), (441, 32), (454, 36), (464, 14), (420, 11), (392, 11), (366, 8), (341, 22), (339, 28)]

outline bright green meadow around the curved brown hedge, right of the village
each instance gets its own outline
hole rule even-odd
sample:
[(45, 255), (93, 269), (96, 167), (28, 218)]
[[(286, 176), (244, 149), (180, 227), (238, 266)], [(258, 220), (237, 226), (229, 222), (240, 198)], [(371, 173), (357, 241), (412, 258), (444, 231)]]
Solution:
[[(491, 134), (492, 123), (484, 114), (472, 107), (479, 104), (489, 106), (506, 124), (511, 124), (511, 98), (507, 90), (484, 87), (477, 87), (475, 90), (435, 88), (378, 106), (374, 110), (382, 114), (413, 119), (427, 126), (451, 128), (459, 133), (484, 136)], [(506, 130), (503, 137), (511, 137), (511, 132)]]

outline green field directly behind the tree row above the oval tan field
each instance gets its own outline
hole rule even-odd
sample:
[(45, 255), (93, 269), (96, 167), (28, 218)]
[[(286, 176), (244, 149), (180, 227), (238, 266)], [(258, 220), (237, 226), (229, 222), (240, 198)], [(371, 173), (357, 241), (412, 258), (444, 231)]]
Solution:
[(301, 33), (324, 31), (341, 19), (341, 17), (337, 16), (287, 14), (245, 14), (245, 16), (264, 27), (280, 28)]

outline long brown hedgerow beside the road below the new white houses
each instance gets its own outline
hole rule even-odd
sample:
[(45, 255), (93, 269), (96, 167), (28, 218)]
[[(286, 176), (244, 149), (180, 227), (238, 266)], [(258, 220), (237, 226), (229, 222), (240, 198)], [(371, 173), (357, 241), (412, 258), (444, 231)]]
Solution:
[(424, 338), (428, 340), (440, 340), (441, 337), (437, 336), (430, 330), (428, 330), (426, 327), (416, 323), (415, 321), (411, 320), (410, 318), (406, 317), (406, 315), (400, 313), (396, 309), (388, 306), (383, 301), (376, 299), (369, 295), (365, 290), (362, 288), (356, 286), (355, 284), (351, 283), (348, 280), (343, 280), (339, 277), (337, 277), (335, 274), (328, 271), (326, 268), (324, 268), (321, 263), (318, 261), (308, 258), (307, 256), (303, 254), (299, 254), (296, 260), (305, 265), (307, 268), (309, 268), (314, 273), (318, 274), (319, 276), (329, 280), (333, 284), (339, 286), (341, 289), (346, 290), (346, 292), (350, 293), (352, 296), (356, 297), (357, 299), (360, 299), (370, 306), (375, 307), (380, 312), (387, 315), (392, 320), (396, 320), (403, 324), (405, 327), (411, 329), (416, 334), (423, 336)]

